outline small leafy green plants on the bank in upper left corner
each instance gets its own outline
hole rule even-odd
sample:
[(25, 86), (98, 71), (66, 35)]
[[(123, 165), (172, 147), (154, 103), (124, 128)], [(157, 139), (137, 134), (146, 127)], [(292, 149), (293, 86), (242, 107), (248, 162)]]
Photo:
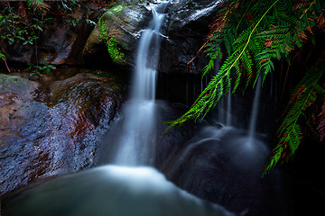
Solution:
[[(110, 7), (115, 0), (96, 0), (91, 4), (98, 6)], [(65, 17), (72, 9), (79, 7), (79, 0), (62, 0), (62, 1), (4, 1), (0, 2), (0, 61), (5, 63), (7, 71), (11, 69), (7, 63), (8, 49), (13, 45), (33, 46), (37, 56), (37, 41), (42, 35), (42, 31), (51, 21), (53, 14)], [(64, 19), (63, 19), (64, 20)], [(67, 19), (69, 20), (69, 19)], [(95, 24), (90, 20), (88, 23)], [(73, 27), (78, 25), (78, 19), (70, 19), (69, 24)], [(34, 64), (29, 64), (33, 69), (32, 74), (42, 75), (54, 68), (47, 64), (46, 58), (38, 62), (35, 58)]]

